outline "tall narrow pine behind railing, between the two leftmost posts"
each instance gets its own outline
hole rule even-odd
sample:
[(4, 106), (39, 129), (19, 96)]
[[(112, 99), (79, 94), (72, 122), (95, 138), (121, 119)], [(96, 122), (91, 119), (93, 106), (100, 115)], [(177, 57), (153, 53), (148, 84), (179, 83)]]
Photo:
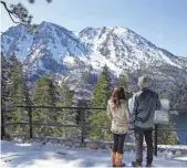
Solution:
[[(10, 97), (11, 97), (11, 105), (13, 106), (27, 106), (30, 105), (30, 96), (29, 96), (29, 88), (27, 85), (27, 81), (23, 74), (23, 66), (22, 63), (19, 62), (15, 55), (11, 55), (9, 59), (10, 65)], [(12, 113), (11, 118), (13, 122), (27, 122), (28, 114), (27, 108), (15, 108)], [(10, 132), (15, 133), (25, 133), (27, 128), (18, 125), (13, 126)]]

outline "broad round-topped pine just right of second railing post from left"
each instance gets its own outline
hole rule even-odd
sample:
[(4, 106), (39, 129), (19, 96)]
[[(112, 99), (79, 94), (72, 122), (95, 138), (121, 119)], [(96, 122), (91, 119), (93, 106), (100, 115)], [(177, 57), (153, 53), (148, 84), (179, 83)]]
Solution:
[[(58, 102), (56, 86), (52, 78), (42, 76), (35, 82), (33, 105), (35, 106), (55, 106)], [(33, 111), (33, 120), (39, 123), (56, 123), (58, 114), (55, 109), (37, 108)], [(51, 127), (37, 127), (35, 132), (40, 135), (52, 135), (54, 130)]]

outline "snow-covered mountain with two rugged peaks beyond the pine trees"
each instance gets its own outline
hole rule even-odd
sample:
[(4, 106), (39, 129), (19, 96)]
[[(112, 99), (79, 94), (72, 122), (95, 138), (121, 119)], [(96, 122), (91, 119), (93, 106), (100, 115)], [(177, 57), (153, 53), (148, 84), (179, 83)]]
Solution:
[(37, 33), (23, 25), (10, 28), (1, 35), (6, 56), (15, 54), (31, 75), (55, 73), (80, 80), (80, 73), (92, 69), (98, 73), (105, 64), (114, 75), (139, 69), (157, 78), (186, 75), (187, 59), (173, 55), (129, 29), (122, 27), (86, 28), (80, 32), (42, 22)]

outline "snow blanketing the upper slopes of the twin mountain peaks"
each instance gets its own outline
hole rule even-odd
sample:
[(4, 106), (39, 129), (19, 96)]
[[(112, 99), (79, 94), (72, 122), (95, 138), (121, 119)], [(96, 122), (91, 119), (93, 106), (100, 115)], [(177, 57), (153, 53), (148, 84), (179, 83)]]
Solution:
[[(115, 75), (121, 74), (123, 69), (133, 72), (141, 67), (142, 62), (146, 67), (155, 66), (155, 63), (157, 66), (183, 67), (186, 62), (177, 56), (170, 57), (146, 39), (123, 27), (86, 28), (81, 32), (72, 32), (60, 25), (42, 22), (37, 34), (29, 34), (23, 27), (14, 27), (2, 34), (1, 40), (4, 55), (8, 51), (15, 52), (19, 60), (23, 61), (27, 57), (29, 64), (50, 55), (56, 63), (65, 63), (67, 67), (70, 65), (70, 69), (76, 69), (74, 57), (79, 57), (86, 66), (92, 65), (97, 72), (106, 64)], [(105, 48), (110, 52), (102, 55), (100, 50)], [(43, 66), (31, 66), (30, 71), (43, 69), (40, 65)], [(159, 76), (165, 75), (160, 72), (155, 73)]]

